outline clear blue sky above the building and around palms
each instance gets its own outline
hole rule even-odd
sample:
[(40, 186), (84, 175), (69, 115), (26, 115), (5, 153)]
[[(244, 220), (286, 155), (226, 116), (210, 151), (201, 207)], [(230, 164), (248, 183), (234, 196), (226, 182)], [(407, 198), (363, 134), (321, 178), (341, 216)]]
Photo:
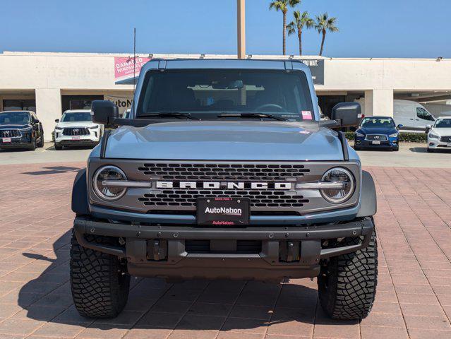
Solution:
[[(2, 1), (0, 50), (236, 53), (236, 0)], [(246, 0), (248, 54), (282, 52), (282, 13)], [(303, 0), (311, 16), (327, 11), (340, 32), (327, 35), (327, 57), (451, 57), (449, 0)], [(291, 20), (291, 13), (289, 13)], [(304, 54), (318, 54), (308, 30)], [(298, 51), (288, 37), (287, 54)]]

